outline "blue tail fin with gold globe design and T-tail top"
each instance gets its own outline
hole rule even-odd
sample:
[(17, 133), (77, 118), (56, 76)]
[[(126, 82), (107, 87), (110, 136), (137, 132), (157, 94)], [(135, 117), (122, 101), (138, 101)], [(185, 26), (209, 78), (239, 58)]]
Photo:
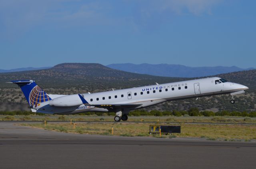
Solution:
[(51, 100), (48, 94), (34, 80), (16, 80), (8, 83), (14, 83), (20, 86), (30, 106)]

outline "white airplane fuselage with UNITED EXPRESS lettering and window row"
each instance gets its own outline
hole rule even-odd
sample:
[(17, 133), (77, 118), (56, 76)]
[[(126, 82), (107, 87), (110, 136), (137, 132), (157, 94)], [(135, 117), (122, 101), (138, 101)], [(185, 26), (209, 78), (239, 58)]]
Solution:
[[(71, 107), (54, 107), (50, 106), (48, 101), (46, 101), (40, 106), (34, 107), (32, 111), (43, 113), (47, 111), (48, 113), (60, 114), (82, 113), (87, 111), (110, 112), (116, 110), (100, 108), (93, 105), (122, 105), (128, 103), (140, 104), (138, 107), (128, 109), (128, 111), (130, 111), (131, 109), (140, 109), (165, 101), (234, 93), (237, 91), (243, 91), (245, 89), (248, 89), (248, 87), (244, 85), (235, 84), (232, 82), (220, 82), (219, 84), (216, 84), (216, 80), (220, 79), (221, 78), (218, 77), (204, 78), (168, 84), (149, 85), (144, 87), (105, 91), (99, 93), (86, 93), (81, 95), (88, 102), (87, 105), (81, 104)], [(54, 99), (66, 95), (49, 94), (49, 96)], [(72, 95), (70, 95), (70, 97), (72, 97)]]

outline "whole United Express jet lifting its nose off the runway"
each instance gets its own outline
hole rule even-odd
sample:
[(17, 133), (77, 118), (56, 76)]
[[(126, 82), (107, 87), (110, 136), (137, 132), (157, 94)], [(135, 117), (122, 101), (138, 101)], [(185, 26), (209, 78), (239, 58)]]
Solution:
[(115, 112), (115, 121), (126, 121), (131, 110), (165, 101), (230, 94), (230, 102), (234, 104), (234, 95), (245, 93), (244, 90), (248, 89), (245, 85), (218, 77), (73, 95), (47, 94), (34, 80), (7, 83), (17, 84), (21, 88), (32, 112), (60, 115), (88, 111)]

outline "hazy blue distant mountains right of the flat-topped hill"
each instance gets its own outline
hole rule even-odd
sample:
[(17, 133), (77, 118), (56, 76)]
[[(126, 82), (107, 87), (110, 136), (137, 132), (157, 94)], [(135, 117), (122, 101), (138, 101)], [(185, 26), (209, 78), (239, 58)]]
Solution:
[(149, 74), (154, 76), (194, 78), (239, 72), (244, 70), (254, 70), (255, 68), (238, 68), (236, 66), (225, 67), (188, 67), (175, 64), (110, 64), (109, 68), (123, 70), (137, 74)]

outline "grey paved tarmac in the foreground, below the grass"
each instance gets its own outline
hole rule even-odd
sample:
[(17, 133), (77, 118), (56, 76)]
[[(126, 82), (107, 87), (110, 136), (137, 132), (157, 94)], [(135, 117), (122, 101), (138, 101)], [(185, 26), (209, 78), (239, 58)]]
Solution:
[(81, 135), (0, 122), (1, 169), (256, 169), (256, 142)]

